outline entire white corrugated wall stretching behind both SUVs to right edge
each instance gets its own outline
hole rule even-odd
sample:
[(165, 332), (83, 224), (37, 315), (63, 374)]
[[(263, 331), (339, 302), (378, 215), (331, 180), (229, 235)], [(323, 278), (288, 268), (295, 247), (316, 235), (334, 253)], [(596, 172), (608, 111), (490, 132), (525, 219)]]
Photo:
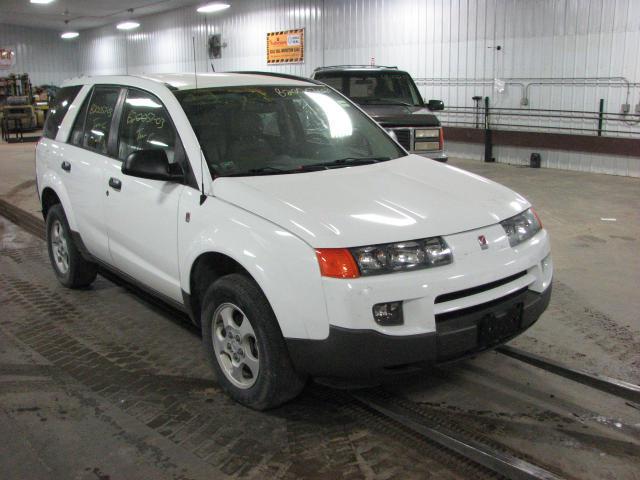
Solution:
[[(609, 78), (597, 85), (537, 85), (528, 88), (527, 108), (620, 112), (640, 104), (640, 0), (243, 0), (214, 15), (194, 7), (141, 19), (141, 28), (122, 33), (109, 25), (82, 32), (78, 64), (83, 74), (192, 71), (192, 38), (198, 71), (261, 69), (309, 75), (330, 64), (398, 65), (415, 78), (425, 98), (470, 107), (474, 95), (493, 106), (520, 107), (532, 78)], [(268, 66), (265, 35), (305, 28), (305, 62)], [(227, 47), (210, 61), (208, 34), (221, 33)], [(0, 35), (1, 38), (1, 35)], [(59, 43), (59, 42), (57, 42)], [(500, 45), (501, 49), (497, 50)], [(58, 55), (55, 55), (58, 57)], [(71, 70), (69, 70), (71, 71)], [(520, 78), (504, 93), (494, 78)], [(522, 84), (518, 85), (518, 83)], [(628, 90), (628, 96), (627, 96)], [(441, 118), (455, 121), (444, 112)], [(499, 120), (499, 119), (498, 119)], [(526, 119), (524, 125), (541, 125)], [(549, 123), (547, 121), (547, 123)], [(592, 120), (561, 120), (557, 126), (593, 128)], [(618, 123), (605, 128), (638, 131)], [(579, 130), (576, 130), (578, 132)], [(625, 134), (621, 134), (625, 135)], [(626, 136), (630, 136), (627, 133)], [(480, 158), (482, 146), (449, 143), (452, 154)], [(498, 148), (499, 161), (521, 163), (530, 151)], [(640, 157), (640, 152), (638, 154)], [(638, 158), (544, 151), (543, 165), (638, 175)]]

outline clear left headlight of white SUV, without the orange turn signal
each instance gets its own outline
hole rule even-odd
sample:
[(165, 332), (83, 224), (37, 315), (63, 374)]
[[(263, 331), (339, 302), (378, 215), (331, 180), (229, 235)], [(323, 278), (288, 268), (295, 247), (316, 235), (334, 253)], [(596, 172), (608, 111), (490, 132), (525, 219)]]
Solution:
[(441, 237), (350, 249), (362, 275), (448, 265), (451, 249)]

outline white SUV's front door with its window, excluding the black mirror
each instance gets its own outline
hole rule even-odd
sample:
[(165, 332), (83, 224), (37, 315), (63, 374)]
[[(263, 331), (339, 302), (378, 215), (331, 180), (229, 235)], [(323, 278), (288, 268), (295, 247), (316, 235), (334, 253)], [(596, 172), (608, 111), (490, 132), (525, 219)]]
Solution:
[(107, 162), (105, 216), (113, 264), (135, 280), (182, 302), (178, 270), (178, 206), (185, 186), (124, 175), (136, 150), (162, 149), (187, 171), (170, 115), (151, 93), (129, 88), (119, 112), (117, 157)]

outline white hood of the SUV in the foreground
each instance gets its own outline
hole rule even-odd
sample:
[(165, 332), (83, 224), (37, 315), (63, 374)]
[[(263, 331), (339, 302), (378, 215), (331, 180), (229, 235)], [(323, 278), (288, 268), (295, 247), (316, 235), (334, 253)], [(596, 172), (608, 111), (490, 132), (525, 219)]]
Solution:
[(530, 206), (495, 182), (417, 155), (319, 172), (222, 177), (212, 193), (325, 248), (458, 233)]

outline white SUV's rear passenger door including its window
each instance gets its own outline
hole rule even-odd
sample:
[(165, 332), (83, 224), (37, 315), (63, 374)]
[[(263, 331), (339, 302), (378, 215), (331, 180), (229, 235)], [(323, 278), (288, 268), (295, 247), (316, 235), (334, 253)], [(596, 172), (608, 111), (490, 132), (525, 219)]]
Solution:
[(89, 92), (64, 145), (65, 186), (76, 218), (78, 233), (87, 250), (109, 262), (104, 217), (104, 176), (109, 137), (121, 87), (95, 86)]

